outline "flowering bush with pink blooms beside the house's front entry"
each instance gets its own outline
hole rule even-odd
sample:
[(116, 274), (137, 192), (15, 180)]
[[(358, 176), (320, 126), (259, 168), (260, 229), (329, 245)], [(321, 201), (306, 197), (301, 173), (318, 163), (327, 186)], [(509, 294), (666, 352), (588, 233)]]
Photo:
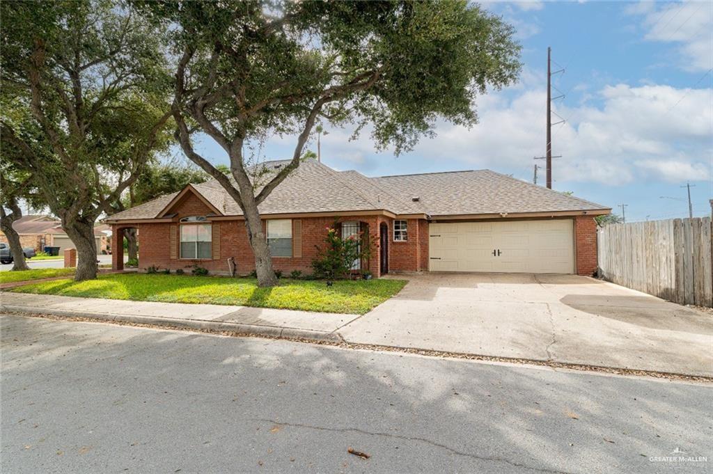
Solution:
[(317, 247), (317, 257), (312, 261), (314, 275), (319, 278), (346, 278), (352, 272), (354, 262), (371, 254), (371, 242), (362, 232), (342, 239), (339, 222), (327, 228), (324, 247)]

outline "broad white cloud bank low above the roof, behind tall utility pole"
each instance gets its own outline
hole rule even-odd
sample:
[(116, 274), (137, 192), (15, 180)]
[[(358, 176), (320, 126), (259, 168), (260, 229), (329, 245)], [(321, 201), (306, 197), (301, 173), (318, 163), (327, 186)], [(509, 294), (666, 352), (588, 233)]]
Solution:
[[(514, 96), (513, 96), (513, 93)], [(624, 185), (634, 181), (709, 180), (713, 156), (709, 89), (617, 84), (595, 92), (600, 106), (556, 109), (568, 123), (553, 128), (555, 180)], [(439, 123), (434, 139), (422, 139), (404, 159), (426, 169), (521, 170), (527, 177), (533, 156), (545, 151), (545, 89), (540, 81), (523, 89), (491, 93), (478, 100), (480, 123), (468, 129)], [(368, 131), (352, 143), (349, 132), (334, 130), (322, 140), (329, 158), (368, 172), (388, 154), (374, 154)]]

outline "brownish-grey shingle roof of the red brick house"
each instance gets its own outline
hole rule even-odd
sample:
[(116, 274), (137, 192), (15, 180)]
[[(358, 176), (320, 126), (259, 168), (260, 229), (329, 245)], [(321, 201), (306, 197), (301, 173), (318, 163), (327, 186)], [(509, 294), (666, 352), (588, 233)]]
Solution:
[[(287, 163), (263, 163), (267, 173), (262, 174), (261, 184)], [(242, 215), (240, 207), (216, 180), (193, 187), (224, 215)], [(151, 219), (176, 195), (174, 192), (158, 197), (108, 220)], [(412, 200), (414, 197), (419, 200)], [(332, 170), (315, 160), (299, 165), (259, 207), (262, 215), (369, 210), (387, 210), (397, 215), (463, 215), (607, 209), (491, 170), (366, 177), (354, 170)]]

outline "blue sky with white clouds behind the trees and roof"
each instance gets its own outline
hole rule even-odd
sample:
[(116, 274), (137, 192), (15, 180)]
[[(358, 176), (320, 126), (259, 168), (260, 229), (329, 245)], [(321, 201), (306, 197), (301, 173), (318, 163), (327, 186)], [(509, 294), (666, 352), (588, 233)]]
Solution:
[[(709, 215), (713, 198), (713, 2), (486, 2), (512, 24), (523, 51), (517, 84), (473, 105), (471, 128), (436, 123), (409, 153), (377, 153), (368, 133), (322, 137), (322, 161), (367, 176), (488, 168), (533, 180), (545, 154), (547, 48), (551, 46), (553, 188), (612, 207), (627, 222)], [(560, 92), (558, 92), (560, 91)], [(292, 155), (295, 138), (267, 140), (267, 159)], [(214, 163), (225, 153), (202, 138)], [(316, 150), (314, 141), (309, 149)], [(544, 184), (544, 170), (538, 182)]]

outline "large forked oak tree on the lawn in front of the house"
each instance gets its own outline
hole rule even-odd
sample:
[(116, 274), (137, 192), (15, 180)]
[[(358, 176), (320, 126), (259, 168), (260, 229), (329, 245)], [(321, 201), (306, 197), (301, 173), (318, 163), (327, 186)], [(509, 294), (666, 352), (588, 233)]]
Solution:
[[(172, 41), (177, 138), (240, 205), (262, 286), (276, 280), (257, 207), (299, 166), (316, 123), (369, 125), (398, 154), (436, 118), (475, 123), (476, 96), (520, 69), (511, 26), (466, 0), (134, 5)], [(232, 180), (195, 150), (193, 130), (225, 150)], [(294, 152), (256, 183), (243, 145), (272, 134), (294, 136)]]

